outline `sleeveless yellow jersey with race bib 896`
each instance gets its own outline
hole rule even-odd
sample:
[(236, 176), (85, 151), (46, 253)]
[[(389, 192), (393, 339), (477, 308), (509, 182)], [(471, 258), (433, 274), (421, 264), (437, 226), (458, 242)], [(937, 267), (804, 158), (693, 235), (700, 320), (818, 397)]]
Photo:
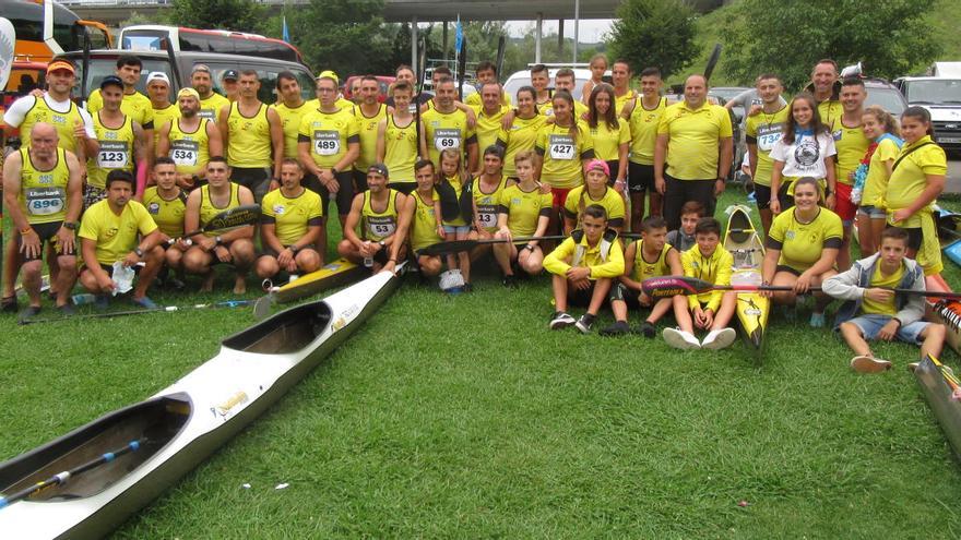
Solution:
[(20, 209), (27, 223), (50, 224), (67, 217), (67, 184), (70, 182), (70, 168), (67, 166), (67, 151), (57, 148), (57, 164), (50, 170), (34, 166), (27, 148), (20, 149), (23, 159), (20, 175)]

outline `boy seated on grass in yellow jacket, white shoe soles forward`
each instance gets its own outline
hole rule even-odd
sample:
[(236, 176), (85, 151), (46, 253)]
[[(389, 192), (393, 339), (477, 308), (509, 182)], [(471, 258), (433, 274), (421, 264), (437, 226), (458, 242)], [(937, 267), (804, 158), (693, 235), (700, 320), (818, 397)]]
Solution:
[[(695, 228), (697, 245), (680, 255), (684, 275), (696, 277), (713, 285), (731, 285), (734, 257), (720, 245), (721, 224), (713, 217), (702, 217)], [(727, 323), (734, 315), (737, 293), (713, 290), (687, 297), (692, 321), (678, 320), (678, 328), (664, 328), (664, 341), (677, 349), (723, 349), (734, 343), (737, 333)], [(693, 323), (693, 326), (691, 326)], [(708, 331), (704, 339), (698, 341), (693, 328)]]

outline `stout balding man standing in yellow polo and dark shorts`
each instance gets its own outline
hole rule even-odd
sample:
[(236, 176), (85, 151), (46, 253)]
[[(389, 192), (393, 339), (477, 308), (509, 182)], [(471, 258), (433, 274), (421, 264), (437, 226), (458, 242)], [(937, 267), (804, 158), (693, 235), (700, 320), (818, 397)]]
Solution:
[(732, 136), (731, 113), (708, 103), (708, 81), (703, 75), (687, 77), (684, 101), (664, 111), (654, 147), (654, 183), (664, 195), (668, 227), (680, 225), (680, 207), (688, 201), (714, 215), (731, 170)]

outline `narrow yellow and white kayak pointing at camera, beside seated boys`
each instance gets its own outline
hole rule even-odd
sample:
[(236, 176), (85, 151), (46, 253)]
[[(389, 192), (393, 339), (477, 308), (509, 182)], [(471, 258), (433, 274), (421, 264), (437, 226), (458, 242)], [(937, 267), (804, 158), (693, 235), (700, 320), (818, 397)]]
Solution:
[[(764, 261), (764, 245), (748, 216), (748, 208), (735, 205), (727, 208), (727, 230), (724, 235), (724, 249), (734, 256), (732, 285), (761, 285), (761, 265)], [(757, 292), (737, 293), (737, 320), (740, 322), (745, 339), (761, 360), (764, 346), (764, 329), (771, 301)]]

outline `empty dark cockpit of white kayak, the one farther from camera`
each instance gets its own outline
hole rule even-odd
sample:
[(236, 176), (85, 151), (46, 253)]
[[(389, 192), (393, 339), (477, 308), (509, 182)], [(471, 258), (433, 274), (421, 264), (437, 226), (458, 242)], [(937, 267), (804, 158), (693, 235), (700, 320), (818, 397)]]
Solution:
[(305, 303), (224, 339), (224, 347), (261, 355), (297, 352), (323, 334), (331, 309), (323, 301)]

